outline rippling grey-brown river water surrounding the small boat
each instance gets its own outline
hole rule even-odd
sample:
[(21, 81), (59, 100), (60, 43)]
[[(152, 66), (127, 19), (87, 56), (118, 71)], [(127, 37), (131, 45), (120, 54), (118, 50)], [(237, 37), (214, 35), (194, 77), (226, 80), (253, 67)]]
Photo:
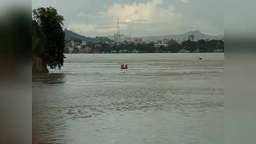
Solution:
[(223, 71), (220, 53), (67, 54), (33, 78), (33, 141), (221, 144)]

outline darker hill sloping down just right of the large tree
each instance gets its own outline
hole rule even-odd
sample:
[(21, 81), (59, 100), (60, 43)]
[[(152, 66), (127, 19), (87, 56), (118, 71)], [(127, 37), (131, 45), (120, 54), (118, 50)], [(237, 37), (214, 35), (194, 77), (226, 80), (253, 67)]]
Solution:
[(75, 40), (75, 39), (79, 39), (84, 42), (93, 42), (93, 43), (106, 43), (106, 42), (111, 43), (111, 42), (113, 42), (113, 40), (110, 40), (109, 38), (104, 37), (104, 36), (97, 36), (95, 38), (91, 38), (91, 37), (79, 35), (79, 34), (75, 33), (74, 31), (65, 29), (65, 40)]

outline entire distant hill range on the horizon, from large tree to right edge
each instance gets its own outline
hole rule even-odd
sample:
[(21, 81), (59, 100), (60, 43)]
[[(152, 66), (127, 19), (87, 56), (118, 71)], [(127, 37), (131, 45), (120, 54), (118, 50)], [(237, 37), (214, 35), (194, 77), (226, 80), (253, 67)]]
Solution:
[[(201, 33), (200, 31), (189, 31), (188, 33), (184, 34), (178, 34), (178, 35), (163, 35), (163, 36), (143, 36), (139, 37), (142, 38), (143, 41), (155, 41), (155, 40), (164, 40), (164, 38), (167, 38), (168, 40), (174, 39), (174, 40), (188, 40), (189, 35), (194, 35), (195, 41), (197, 40), (222, 40), (224, 38), (223, 35), (220, 36), (210, 36), (210, 35), (205, 35), (204, 33)], [(79, 39), (84, 42), (94, 42), (94, 43), (111, 43), (114, 42), (115, 36), (97, 36), (95, 38), (91, 38), (88, 36), (83, 36), (75, 33), (74, 31), (70, 31), (65, 29), (65, 40), (74, 40), (74, 39)], [(133, 37), (121, 35), (121, 42), (124, 42), (124, 40), (127, 41), (132, 41)]]

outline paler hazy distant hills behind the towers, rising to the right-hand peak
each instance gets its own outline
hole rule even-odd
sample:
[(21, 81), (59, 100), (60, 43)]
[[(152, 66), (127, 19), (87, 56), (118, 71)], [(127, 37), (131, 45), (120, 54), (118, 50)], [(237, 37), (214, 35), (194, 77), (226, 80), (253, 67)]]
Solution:
[[(163, 35), (163, 36), (143, 36), (143, 37), (139, 37), (142, 38), (143, 41), (155, 41), (155, 40), (164, 40), (164, 38), (167, 38), (168, 40), (174, 39), (174, 40), (188, 40), (188, 36), (189, 35), (194, 35), (195, 37), (195, 41), (197, 40), (222, 40), (224, 38), (223, 35), (220, 36), (210, 36), (210, 35), (205, 35), (204, 33), (201, 33), (200, 31), (189, 31), (188, 33), (184, 33), (184, 34), (178, 34), (178, 35)], [(107, 38), (109, 38), (110, 40), (115, 40), (115, 36), (111, 35), (111, 36), (106, 36)], [(124, 42), (124, 40), (133, 40), (132, 37), (129, 36), (125, 36), (125, 35), (121, 35), (121, 41)]]

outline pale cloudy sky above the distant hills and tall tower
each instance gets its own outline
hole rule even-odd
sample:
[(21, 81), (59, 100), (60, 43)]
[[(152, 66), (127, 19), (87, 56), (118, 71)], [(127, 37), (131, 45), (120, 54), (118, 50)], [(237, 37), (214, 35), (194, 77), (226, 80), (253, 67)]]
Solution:
[(199, 29), (223, 35), (223, 0), (33, 0), (54, 6), (65, 28), (85, 36), (113, 35), (120, 19), (124, 35), (156, 36)]

